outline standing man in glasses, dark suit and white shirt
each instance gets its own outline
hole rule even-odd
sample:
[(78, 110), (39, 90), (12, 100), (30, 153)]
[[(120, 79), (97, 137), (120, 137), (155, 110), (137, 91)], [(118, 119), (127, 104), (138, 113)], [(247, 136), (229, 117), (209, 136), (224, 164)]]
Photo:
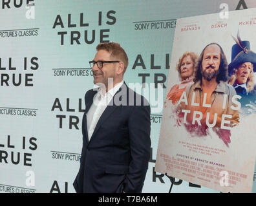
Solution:
[[(142, 192), (150, 156), (150, 107), (123, 82), (128, 57), (115, 42), (99, 44), (85, 94), (83, 147), (76, 192)], [(112, 81), (111, 81), (112, 80)]]

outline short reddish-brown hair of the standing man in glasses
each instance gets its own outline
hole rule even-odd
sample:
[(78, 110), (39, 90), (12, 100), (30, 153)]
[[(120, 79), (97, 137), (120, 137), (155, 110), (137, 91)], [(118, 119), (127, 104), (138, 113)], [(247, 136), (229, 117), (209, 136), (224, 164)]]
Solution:
[(125, 50), (120, 46), (119, 43), (116, 42), (104, 42), (101, 44), (98, 44), (96, 47), (96, 50), (105, 50), (109, 53), (111, 53), (111, 57), (117, 58), (117, 60), (122, 61), (124, 64), (124, 70), (123, 73), (125, 73), (126, 68), (128, 66), (128, 57), (125, 53)]

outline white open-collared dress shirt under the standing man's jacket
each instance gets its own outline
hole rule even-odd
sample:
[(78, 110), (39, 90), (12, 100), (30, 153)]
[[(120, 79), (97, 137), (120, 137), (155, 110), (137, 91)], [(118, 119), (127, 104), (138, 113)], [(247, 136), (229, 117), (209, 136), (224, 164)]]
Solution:
[(107, 91), (105, 95), (103, 94), (102, 89), (99, 89), (96, 95), (94, 95), (92, 106), (86, 114), (89, 141), (103, 111), (105, 111), (107, 105), (109, 104), (109, 102), (111, 102), (111, 99), (114, 97), (114, 95), (122, 85), (123, 80), (122, 82), (116, 84), (114, 88)]

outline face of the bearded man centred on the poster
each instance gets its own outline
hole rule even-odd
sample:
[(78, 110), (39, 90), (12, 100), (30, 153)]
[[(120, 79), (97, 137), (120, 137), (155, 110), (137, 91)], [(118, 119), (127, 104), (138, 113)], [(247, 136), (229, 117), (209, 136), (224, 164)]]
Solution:
[(202, 59), (202, 76), (206, 80), (217, 77), (220, 66), (220, 48), (216, 44), (211, 44), (204, 50)]

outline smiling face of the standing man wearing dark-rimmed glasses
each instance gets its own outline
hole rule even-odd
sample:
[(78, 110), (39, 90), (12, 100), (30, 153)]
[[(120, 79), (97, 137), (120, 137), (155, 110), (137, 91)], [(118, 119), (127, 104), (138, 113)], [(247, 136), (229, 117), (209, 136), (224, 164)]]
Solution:
[[(111, 53), (105, 50), (99, 50), (93, 61), (114, 61), (111, 57)], [(116, 63), (103, 63), (102, 68), (98, 68), (97, 64), (92, 67), (92, 73), (94, 78), (94, 84), (102, 83), (108, 88), (108, 79), (116, 77)]]

